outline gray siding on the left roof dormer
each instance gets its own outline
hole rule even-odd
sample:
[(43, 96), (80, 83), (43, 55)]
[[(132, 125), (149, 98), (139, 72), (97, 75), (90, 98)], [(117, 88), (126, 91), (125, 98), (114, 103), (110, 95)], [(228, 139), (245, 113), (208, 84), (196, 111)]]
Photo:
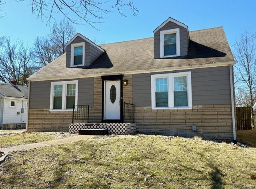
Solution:
[(103, 52), (96, 48), (94, 45), (88, 43), (83, 40), (79, 36), (77, 36), (66, 49), (66, 67), (70, 68), (70, 56), (71, 56), (71, 44), (84, 42), (84, 64), (85, 66), (89, 66), (98, 58)]

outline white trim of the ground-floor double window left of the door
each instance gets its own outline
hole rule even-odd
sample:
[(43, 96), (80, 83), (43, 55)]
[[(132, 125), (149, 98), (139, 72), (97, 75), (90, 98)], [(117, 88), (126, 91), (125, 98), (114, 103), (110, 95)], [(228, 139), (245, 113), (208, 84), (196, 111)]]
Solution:
[[(68, 84), (76, 84), (76, 97), (75, 104), (77, 104), (78, 100), (78, 80), (74, 81), (62, 81), (62, 82), (51, 82), (51, 92), (50, 92), (50, 111), (70, 111), (72, 108), (66, 109), (66, 94), (67, 94), (67, 85)], [(53, 96), (54, 96), (54, 86), (62, 85), (62, 108), (61, 109), (53, 109)]]

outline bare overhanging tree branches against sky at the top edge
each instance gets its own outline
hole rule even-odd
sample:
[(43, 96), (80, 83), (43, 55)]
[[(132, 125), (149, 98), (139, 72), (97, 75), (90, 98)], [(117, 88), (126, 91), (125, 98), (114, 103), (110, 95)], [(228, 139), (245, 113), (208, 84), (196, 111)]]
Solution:
[[(2, 0), (0, 0), (1, 5)], [(16, 0), (18, 3), (25, 3), (24, 0)], [(128, 7), (134, 16), (137, 16), (138, 10), (134, 6), (133, 0), (32, 0), (28, 6), (31, 6), (32, 13), (38, 18), (45, 18), (50, 22), (56, 14), (62, 14), (70, 22), (75, 24), (89, 24), (95, 28), (96, 23), (106, 19), (105, 15), (117, 10), (122, 16), (123, 8)]]

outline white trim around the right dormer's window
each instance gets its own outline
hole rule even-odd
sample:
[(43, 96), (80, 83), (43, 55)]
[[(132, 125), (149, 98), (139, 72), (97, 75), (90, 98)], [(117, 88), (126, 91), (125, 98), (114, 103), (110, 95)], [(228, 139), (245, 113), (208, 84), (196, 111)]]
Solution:
[[(176, 33), (176, 54), (164, 56), (164, 35)], [(160, 31), (160, 58), (180, 56), (180, 28)]]

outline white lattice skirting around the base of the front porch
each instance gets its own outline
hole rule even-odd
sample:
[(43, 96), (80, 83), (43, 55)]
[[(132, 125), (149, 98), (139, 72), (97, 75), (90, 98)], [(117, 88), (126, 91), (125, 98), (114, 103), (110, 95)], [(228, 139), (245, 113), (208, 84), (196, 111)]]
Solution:
[(70, 123), (69, 132), (78, 133), (80, 129), (108, 129), (108, 133), (126, 135), (136, 132), (136, 123)]

